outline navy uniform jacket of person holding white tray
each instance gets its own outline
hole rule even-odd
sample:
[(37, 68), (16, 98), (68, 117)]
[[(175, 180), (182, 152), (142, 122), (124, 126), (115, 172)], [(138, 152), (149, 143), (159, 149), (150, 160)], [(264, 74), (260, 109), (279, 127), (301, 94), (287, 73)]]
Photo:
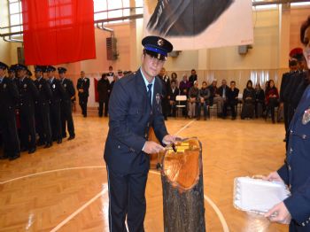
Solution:
[(310, 122), (303, 123), (305, 111), (309, 109), (310, 86), (291, 120), (286, 164), (278, 170), (291, 189), (291, 197), (284, 204), (291, 213), (291, 223), (300, 226), (296, 231), (310, 231)]

